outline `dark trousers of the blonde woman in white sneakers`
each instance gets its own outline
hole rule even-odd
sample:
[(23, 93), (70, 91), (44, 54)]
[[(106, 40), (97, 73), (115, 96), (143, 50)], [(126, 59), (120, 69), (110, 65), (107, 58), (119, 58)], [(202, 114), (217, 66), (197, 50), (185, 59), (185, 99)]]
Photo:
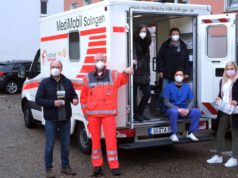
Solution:
[(217, 131), (217, 154), (221, 155), (225, 145), (225, 135), (231, 126), (232, 133), (232, 156), (238, 156), (238, 128), (232, 127), (231, 115), (222, 113)]

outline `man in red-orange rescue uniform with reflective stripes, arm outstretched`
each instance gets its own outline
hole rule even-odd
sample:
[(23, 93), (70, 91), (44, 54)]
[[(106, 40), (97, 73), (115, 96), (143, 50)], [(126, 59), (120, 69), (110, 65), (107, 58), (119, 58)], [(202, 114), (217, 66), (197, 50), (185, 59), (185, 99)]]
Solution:
[(81, 90), (81, 107), (88, 119), (88, 129), (92, 135), (92, 164), (93, 175), (101, 176), (102, 151), (101, 151), (101, 124), (103, 126), (107, 160), (114, 176), (120, 175), (117, 155), (116, 121), (117, 91), (128, 82), (133, 68), (126, 68), (122, 73), (106, 69), (105, 57), (98, 53), (94, 57), (95, 70), (89, 72), (83, 81)]

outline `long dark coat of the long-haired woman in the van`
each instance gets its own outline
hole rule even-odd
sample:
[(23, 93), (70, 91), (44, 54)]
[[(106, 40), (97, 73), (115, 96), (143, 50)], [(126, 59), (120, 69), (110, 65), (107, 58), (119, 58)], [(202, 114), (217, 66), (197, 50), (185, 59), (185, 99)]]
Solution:
[(150, 49), (142, 40), (134, 42), (133, 58), (137, 61), (134, 71), (134, 82), (146, 84), (150, 82)]

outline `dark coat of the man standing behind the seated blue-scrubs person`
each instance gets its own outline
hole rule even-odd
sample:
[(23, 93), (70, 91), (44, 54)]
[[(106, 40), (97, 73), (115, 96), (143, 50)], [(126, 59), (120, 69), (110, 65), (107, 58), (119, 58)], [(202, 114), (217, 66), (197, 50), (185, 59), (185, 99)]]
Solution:
[(180, 40), (180, 47), (170, 44), (171, 39), (164, 42), (157, 54), (157, 72), (163, 72), (164, 78), (172, 80), (178, 68), (189, 74), (189, 56), (186, 44)]

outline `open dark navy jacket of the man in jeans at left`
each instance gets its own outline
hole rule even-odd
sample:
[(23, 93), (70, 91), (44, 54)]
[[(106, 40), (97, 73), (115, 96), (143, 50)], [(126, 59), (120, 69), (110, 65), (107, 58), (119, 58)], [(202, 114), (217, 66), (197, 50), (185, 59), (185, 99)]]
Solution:
[[(62, 85), (65, 89), (65, 110), (66, 119), (72, 116), (71, 102), (73, 99), (78, 99), (78, 96), (73, 88), (72, 82), (64, 75), (61, 75)], [(44, 118), (46, 120), (58, 120), (58, 107), (54, 106), (54, 101), (57, 99), (57, 81), (52, 77), (45, 78), (41, 81), (36, 93), (36, 104), (43, 106)]]

